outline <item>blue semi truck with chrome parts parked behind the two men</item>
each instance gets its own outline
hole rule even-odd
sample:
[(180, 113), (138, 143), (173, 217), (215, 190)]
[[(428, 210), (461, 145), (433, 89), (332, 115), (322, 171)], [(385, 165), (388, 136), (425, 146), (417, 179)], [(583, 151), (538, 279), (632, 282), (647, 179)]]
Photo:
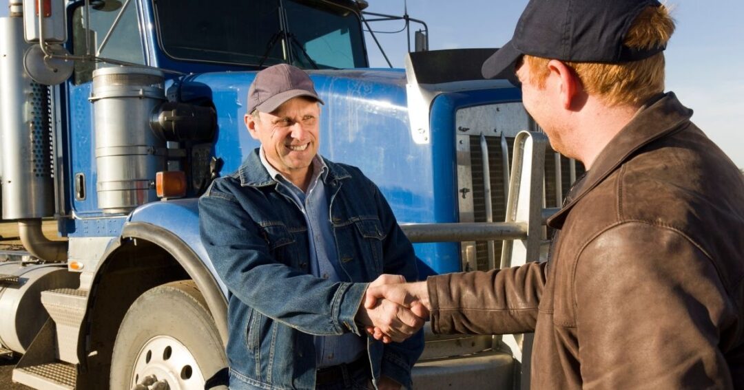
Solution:
[[(25, 247), (0, 257), (0, 356), (22, 355), (13, 380), (203, 389), (226, 365), (226, 290), (197, 201), (257, 147), (246, 94), (280, 62), (312, 77), (326, 103), (321, 154), (378, 184), (422, 279), (540, 257), (542, 222), (581, 167), (551, 152), (517, 88), (482, 79), (493, 49), (369, 68), (366, 6), (10, 0), (0, 203)], [(46, 237), (44, 221), (66, 239)], [(414, 387), (528, 386), (528, 341), (427, 330)]]

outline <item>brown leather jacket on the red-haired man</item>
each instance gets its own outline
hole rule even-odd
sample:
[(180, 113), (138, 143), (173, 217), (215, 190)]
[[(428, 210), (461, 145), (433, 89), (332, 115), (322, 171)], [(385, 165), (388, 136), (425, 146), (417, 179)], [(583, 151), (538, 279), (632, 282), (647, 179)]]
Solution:
[(672, 93), (639, 111), (547, 263), (430, 277), (434, 332), (534, 331), (534, 389), (744, 389), (744, 176), (691, 115)]

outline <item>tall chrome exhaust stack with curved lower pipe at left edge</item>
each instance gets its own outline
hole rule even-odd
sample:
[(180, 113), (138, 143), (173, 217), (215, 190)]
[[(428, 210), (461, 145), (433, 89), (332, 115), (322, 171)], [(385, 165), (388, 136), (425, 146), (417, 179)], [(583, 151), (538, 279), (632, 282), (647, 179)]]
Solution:
[(0, 18), (1, 219), (21, 221), (22, 242), (34, 256), (63, 261), (67, 243), (50, 241), (41, 230), (41, 218), (55, 211), (51, 100), (48, 87), (24, 69), (31, 45), (24, 41), (22, 16), (22, 4), (10, 1), (10, 17)]

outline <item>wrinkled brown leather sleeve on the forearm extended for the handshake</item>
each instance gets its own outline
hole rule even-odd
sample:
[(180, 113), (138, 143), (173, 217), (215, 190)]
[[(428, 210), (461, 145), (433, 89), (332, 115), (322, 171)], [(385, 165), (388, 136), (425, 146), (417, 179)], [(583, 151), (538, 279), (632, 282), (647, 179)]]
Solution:
[(429, 276), (427, 287), (435, 333), (531, 332), (545, 287), (545, 263)]

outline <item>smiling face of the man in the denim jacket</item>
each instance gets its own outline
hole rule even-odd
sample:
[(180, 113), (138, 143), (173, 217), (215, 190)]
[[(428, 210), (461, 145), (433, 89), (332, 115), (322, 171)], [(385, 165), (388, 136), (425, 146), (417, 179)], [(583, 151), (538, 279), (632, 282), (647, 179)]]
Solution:
[(271, 114), (260, 112), (258, 118), (251, 114), (245, 117), (251, 137), (263, 146), (266, 160), (302, 189), (310, 179), (310, 165), (318, 153), (320, 113), (317, 101), (294, 97)]

